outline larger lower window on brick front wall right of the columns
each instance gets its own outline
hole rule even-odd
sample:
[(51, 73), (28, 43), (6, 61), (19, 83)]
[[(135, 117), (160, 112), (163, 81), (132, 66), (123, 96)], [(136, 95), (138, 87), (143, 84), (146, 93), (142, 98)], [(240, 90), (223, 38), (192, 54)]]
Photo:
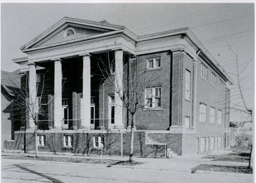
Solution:
[(145, 107), (162, 107), (162, 88), (147, 88), (145, 93)]

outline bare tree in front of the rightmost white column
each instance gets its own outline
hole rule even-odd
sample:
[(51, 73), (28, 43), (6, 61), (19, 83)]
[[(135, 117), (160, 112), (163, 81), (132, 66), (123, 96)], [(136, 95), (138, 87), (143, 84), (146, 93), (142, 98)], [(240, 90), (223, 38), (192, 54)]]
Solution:
[[(161, 89), (157, 91), (157, 95), (146, 90), (148, 86), (152, 83), (156, 83), (157, 79), (161, 77), (160, 75), (154, 74), (148, 69), (147, 57), (146, 55), (132, 56), (124, 53), (123, 65), (124, 72), (122, 82), (123, 84), (116, 83), (118, 74), (116, 74), (115, 68), (115, 58), (111, 53), (107, 52), (104, 55), (101, 55), (98, 59), (98, 68), (99, 73), (104, 79), (108, 87), (112, 88), (115, 93), (118, 94), (120, 100), (122, 101), (122, 107), (127, 111), (127, 126), (131, 126), (131, 146), (130, 146), (130, 157), (129, 161), (133, 161), (133, 128), (135, 126), (135, 114), (138, 109), (152, 110), (152, 98), (155, 99), (153, 106), (161, 106)], [(160, 66), (160, 59), (157, 63)], [(153, 61), (152, 61), (153, 65)], [(150, 66), (149, 66), (150, 67)], [(120, 74), (120, 73), (119, 73)], [(145, 101), (145, 92), (146, 92), (146, 101)], [(167, 91), (166, 91), (167, 92)], [(157, 98), (159, 97), (159, 98)], [(116, 100), (116, 98), (115, 98)], [(130, 116), (130, 118), (129, 118)]]

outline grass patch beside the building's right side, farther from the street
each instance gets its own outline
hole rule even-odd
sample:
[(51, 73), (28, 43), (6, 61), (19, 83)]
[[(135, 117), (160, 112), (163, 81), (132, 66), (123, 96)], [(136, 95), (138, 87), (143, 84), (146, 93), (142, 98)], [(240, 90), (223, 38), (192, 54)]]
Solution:
[(207, 155), (202, 158), (210, 158), (212, 161), (232, 161), (249, 163), (251, 147), (233, 147), (232, 153), (222, 155)]

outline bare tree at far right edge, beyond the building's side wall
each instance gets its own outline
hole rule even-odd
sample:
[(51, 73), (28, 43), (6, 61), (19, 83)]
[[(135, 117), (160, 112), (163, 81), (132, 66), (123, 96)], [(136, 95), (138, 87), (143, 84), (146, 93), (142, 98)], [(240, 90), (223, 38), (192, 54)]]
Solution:
[[(228, 50), (231, 52), (232, 58), (225, 58), (230, 61), (229, 64), (227, 64), (229, 67), (234, 67), (233, 72), (228, 72), (228, 74), (232, 75), (232, 78), (234, 79), (235, 83), (232, 87), (232, 95), (230, 95), (230, 103), (232, 106), (230, 106), (230, 109), (233, 111), (240, 111), (247, 115), (247, 118), (241, 119), (242, 126), (244, 126), (245, 123), (252, 123), (252, 109), (250, 109), (245, 102), (244, 98), (244, 91), (251, 89), (251, 88), (245, 88), (244, 83), (246, 80), (248, 80), (248, 75), (244, 76), (244, 71), (246, 70), (249, 63), (252, 61), (252, 59), (245, 61), (244, 63), (240, 63), (239, 60), (239, 53), (238, 51), (234, 51), (229, 45)], [(220, 54), (219, 54), (220, 56)], [(251, 118), (251, 120), (250, 120)], [(249, 166), (248, 168), (251, 169), (251, 157), (252, 157), (252, 145), (251, 145), (251, 152), (250, 152), (250, 160), (249, 160)]]

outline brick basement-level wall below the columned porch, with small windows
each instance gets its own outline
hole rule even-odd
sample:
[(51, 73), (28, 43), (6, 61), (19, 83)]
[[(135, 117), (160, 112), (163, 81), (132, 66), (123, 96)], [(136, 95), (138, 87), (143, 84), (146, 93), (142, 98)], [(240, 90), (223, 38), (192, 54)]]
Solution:
[[(72, 132), (72, 131), (71, 131)], [(46, 147), (38, 147), (39, 151), (51, 153), (77, 153), (85, 155), (100, 155), (100, 149), (93, 148), (93, 136), (105, 137), (105, 148), (103, 155), (121, 156), (121, 147), (123, 146), (123, 155), (129, 156), (131, 133), (66, 133), (56, 132), (44, 133), (39, 131), (38, 135), (45, 135)], [(63, 148), (64, 135), (72, 135), (74, 137), (73, 149)], [(24, 137), (25, 136), (25, 137)], [(121, 136), (123, 136), (123, 144), (121, 143)], [(182, 152), (182, 134), (172, 133), (148, 133), (148, 136), (158, 143), (166, 143), (167, 146), (161, 144), (146, 144), (145, 132), (134, 133), (134, 148), (133, 155), (138, 157), (164, 157), (167, 148), (171, 148), (174, 153), (181, 155)], [(26, 141), (26, 151), (35, 151), (35, 135), (29, 132), (16, 132), (15, 141), (13, 145), (6, 148), (22, 150), (22, 144)], [(6, 145), (7, 146), (7, 145)], [(40, 152), (39, 152), (40, 153)]]

